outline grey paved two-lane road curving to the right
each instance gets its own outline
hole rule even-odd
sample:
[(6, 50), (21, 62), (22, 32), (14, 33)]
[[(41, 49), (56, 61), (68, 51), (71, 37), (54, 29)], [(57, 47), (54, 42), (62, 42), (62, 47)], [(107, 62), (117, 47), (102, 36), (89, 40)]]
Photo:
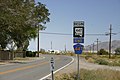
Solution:
[(44, 55), (44, 59), (0, 66), (0, 80), (39, 80), (50, 74), (50, 59), (55, 60), (55, 70), (71, 62), (70, 57)]

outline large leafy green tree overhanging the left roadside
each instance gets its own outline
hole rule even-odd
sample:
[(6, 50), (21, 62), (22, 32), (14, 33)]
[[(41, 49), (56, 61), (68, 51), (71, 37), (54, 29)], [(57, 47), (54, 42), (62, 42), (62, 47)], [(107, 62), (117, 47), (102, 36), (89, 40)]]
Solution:
[(37, 29), (49, 21), (49, 10), (34, 0), (0, 0), (0, 46), (15, 43), (17, 49), (27, 49), (29, 41), (37, 37)]

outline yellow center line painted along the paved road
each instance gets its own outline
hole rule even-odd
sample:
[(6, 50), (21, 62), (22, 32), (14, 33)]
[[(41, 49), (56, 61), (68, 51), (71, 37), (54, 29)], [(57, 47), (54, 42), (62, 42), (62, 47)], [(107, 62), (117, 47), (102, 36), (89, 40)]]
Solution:
[[(58, 60), (58, 59), (56, 59), (56, 60)], [(35, 65), (31, 65), (31, 66), (25, 66), (25, 67), (21, 67), (21, 68), (16, 68), (16, 69), (0, 72), (0, 75), (16, 72), (16, 71), (20, 71), (20, 70), (30, 69), (30, 68), (33, 68), (33, 67), (37, 67), (37, 66), (40, 66), (40, 65), (47, 64), (47, 63), (49, 63), (49, 61), (48, 62), (42, 62), (41, 64), (35, 64)]]

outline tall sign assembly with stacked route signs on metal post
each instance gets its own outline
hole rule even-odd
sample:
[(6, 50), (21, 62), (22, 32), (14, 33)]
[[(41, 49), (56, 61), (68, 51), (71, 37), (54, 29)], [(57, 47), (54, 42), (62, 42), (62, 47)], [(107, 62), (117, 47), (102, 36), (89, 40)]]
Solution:
[(73, 43), (77, 43), (73, 46), (78, 59), (77, 80), (80, 80), (79, 54), (82, 54), (83, 45), (79, 43), (84, 43), (84, 21), (74, 21), (73, 24)]

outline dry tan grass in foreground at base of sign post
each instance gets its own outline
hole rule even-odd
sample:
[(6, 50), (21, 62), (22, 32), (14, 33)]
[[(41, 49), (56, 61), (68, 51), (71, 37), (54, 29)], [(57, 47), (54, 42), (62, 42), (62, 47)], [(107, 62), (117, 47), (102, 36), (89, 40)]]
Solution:
[[(120, 80), (120, 71), (113, 70), (80, 70), (81, 80)], [(76, 73), (56, 76), (55, 80), (77, 80)]]

